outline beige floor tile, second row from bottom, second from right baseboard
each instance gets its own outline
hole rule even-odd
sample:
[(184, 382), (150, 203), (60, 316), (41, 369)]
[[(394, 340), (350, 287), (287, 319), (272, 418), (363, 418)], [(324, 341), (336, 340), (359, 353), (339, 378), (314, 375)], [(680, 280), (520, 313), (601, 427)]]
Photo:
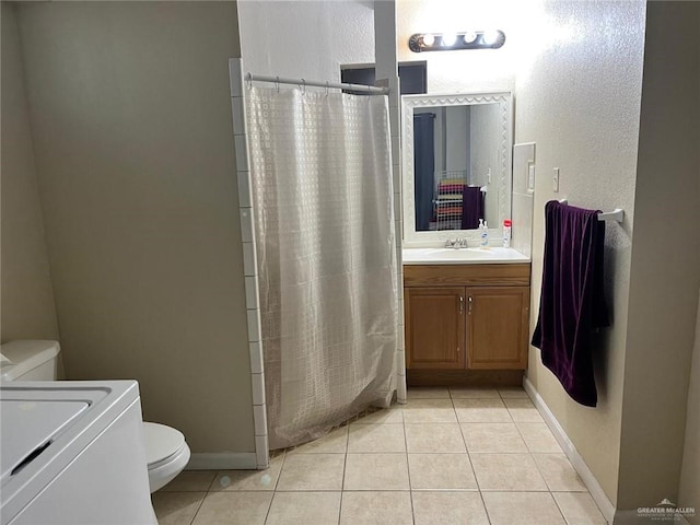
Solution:
[(529, 454), (470, 454), (469, 457), (481, 490), (547, 490)]

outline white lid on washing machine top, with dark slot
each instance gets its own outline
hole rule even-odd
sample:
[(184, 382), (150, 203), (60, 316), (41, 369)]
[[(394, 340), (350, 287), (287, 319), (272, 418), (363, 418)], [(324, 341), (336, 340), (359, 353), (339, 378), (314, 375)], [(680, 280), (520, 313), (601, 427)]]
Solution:
[(34, 460), (89, 406), (85, 400), (0, 399), (0, 479)]

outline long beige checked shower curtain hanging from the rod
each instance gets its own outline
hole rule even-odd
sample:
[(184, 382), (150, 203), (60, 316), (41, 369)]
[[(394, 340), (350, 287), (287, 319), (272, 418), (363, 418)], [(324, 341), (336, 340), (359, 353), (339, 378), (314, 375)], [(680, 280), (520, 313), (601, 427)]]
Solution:
[(270, 448), (395, 389), (398, 295), (386, 96), (250, 86), (250, 179)]

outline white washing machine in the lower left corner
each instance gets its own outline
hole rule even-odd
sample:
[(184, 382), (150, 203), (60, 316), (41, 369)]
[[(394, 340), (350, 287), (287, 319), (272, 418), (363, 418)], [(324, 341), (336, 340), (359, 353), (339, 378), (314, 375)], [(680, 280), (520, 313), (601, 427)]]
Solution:
[(155, 525), (135, 381), (0, 384), (2, 525)]

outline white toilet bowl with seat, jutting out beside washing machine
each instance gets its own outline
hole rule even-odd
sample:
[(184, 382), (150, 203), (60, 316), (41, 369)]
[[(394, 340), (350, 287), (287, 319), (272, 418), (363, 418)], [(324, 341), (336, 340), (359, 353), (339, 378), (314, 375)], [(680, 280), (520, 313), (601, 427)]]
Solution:
[(151, 492), (167, 485), (189, 462), (189, 447), (178, 430), (160, 423), (143, 423), (145, 457)]

